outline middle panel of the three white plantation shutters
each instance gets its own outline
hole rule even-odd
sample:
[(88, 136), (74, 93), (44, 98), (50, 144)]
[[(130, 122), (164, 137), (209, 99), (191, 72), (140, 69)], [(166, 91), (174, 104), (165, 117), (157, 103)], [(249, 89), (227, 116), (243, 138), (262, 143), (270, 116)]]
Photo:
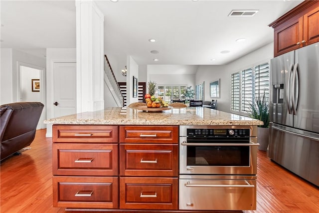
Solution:
[(253, 103), (253, 68), (241, 71), (241, 111), (250, 112)]

